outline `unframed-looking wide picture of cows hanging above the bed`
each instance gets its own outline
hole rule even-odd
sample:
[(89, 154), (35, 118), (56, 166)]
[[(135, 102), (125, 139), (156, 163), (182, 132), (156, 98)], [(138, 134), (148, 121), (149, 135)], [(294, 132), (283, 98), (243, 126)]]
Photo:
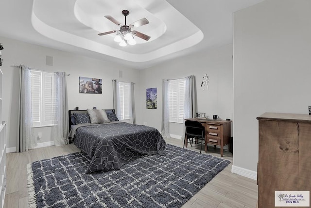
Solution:
[(79, 93), (102, 94), (102, 79), (79, 76)]

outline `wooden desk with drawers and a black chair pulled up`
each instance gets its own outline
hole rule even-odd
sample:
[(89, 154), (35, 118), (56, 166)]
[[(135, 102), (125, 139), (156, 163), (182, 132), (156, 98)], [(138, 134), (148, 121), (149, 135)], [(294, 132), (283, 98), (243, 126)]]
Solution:
[[(229, 144), (231, 135), (231, 121), (206, 118), (190, 118), (185, 120), (199, 121), (205, 127), (205, 152), (207, 152), (207, 144), (212, 144), (220, 146), (220, 155), (224, 155), (224, 146)], [(186, 140), (186, 147), (187, 144)]]

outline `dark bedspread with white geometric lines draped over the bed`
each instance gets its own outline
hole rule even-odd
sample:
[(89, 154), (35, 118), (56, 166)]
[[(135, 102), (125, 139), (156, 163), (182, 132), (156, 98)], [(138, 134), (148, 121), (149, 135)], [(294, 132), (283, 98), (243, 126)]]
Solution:
[(123, 122), (79, 127), (73, 143), (91, 158), (86, 173), (119, 170), (144, 155), (165, 154), (157, 129)]

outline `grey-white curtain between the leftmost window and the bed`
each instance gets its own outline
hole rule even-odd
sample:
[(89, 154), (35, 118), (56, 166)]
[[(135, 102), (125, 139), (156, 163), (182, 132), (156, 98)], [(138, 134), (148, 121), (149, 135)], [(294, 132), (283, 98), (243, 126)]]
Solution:
[(52, 136), (54, 145), (58, 146), (69, 143), (68, 96), (65, 72), (57, 72), (55, 74), (53, 92), (56, 103), (53, 116), (55, 125), (52, 127)]

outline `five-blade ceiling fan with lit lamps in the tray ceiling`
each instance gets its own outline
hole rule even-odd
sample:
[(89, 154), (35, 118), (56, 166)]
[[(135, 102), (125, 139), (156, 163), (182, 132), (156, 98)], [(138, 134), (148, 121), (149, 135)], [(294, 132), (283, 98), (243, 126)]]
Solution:
[(104, 36), (104, 35), (111, 34), (111, 33), (117, 33), (117, 36), (114, 38), (114, 40), (116, 42), (119, 42), (120, 46), (127, 46), (127, 44), (135, 45), (136, 41), (134, 39), (134, 36), (137, 36), (138, 38), (142, 38), (142, 39), (148, 41), (151, 38), (150, 36), (147, 36), (147, 35), (140, 33), (136, 30), (131, 31), (131, 28), (136, 28), (136, 27), (148, 24), (149, 23), (148, 19), (142, 18), (142, 19), (139, 19), (139, 20), (133, 22), (130, 25), (126, 25), (126, 16), (128, 16), (129, 14), (130, 14), (130, 12), (128, 10), (122, 11), (122, 15), (124, 15), (124, 18), (125, 18), (124, 25), (122, 25), (119, 21), (117, 21), (116, 19), (114, 19), (111, 16), (105, 16), (105, 18), (107, 18), (110, 21), (112, 21), (113, 23), (121, 26), (120, 30), (112, 30), (112, 31), (108, 31), (105, 33), (100, 33), (98, 35)]

